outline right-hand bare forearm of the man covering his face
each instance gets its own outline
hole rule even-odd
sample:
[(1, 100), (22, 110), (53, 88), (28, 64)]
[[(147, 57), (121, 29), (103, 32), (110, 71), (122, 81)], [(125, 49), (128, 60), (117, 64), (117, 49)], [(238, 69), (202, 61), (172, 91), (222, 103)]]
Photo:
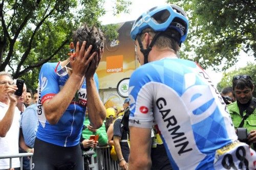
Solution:
[(93, 78), (86, 78), (87, 106), (89, 119), (93, 128), (98, 129), (102, 126), (106, 117), (105, 107), (99, 98), (99, 94)]

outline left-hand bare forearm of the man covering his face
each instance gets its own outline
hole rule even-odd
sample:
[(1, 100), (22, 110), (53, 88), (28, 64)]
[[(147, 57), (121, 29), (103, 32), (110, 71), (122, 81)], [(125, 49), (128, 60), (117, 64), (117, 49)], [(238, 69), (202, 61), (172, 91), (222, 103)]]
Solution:
[(43, 104), (46, 118), (50, 124), (58, 123), (58, 120), (73, 100), (81, 80), (80, 76), (72, 74), (63, 88), (51, 100)]

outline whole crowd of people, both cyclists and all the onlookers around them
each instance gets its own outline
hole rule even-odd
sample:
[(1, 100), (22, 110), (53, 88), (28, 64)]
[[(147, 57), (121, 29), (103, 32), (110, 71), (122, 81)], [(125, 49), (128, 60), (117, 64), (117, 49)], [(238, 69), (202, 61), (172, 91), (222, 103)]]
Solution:
[[(134, 22), (141, 66), (120, 110), (99, 97), (104, 36), (96, 27), (73, 32), (66, 60), (42, 65), (35, 93), (24, 84), (15, 95), (12, 76), (0, 72), (0, 155), (31, 152), (32, 169), (81, 170), (82, 151), (110, 145), (125, 170), (255, 169), (253, 80), (234, 76), (220, 93), (197, 63), (179, 58), (188, 25), (183, 9), (167, 4)], [(11, 169), (20, 166), (30, 169), (13, 158)]]

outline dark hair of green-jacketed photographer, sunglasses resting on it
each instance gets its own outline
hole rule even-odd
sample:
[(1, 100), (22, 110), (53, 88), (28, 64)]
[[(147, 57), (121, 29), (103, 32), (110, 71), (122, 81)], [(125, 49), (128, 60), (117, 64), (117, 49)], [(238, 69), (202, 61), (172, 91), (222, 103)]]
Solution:
[[(242, 75), (238, 75), (238, 76), (242, 76)], [(234, 90), (234, 88), (243, 90), (246, 87), (253, 89), (253, 81), (250, 77), (248, 77), (246, 79), (243, 77), (240, 77), (239, 79), (236, 79), (236, 80), (233, 79), (233, 81), (232, 81), (233, 90)]]

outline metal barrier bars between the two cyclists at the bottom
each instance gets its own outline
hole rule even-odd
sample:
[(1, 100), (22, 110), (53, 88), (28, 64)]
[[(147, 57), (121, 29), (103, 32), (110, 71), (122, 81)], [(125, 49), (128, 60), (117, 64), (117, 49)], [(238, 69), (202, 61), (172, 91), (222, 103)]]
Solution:
[[(94, 148), (96, 157), (93, 155), (90, 160), (89, 170), (119, 170), (118, 161), (112, 160), (110, 146)], [(83, 156), (85, 156), (83, 154)], [(86, 169), (86, 168), (85, 168)]]

